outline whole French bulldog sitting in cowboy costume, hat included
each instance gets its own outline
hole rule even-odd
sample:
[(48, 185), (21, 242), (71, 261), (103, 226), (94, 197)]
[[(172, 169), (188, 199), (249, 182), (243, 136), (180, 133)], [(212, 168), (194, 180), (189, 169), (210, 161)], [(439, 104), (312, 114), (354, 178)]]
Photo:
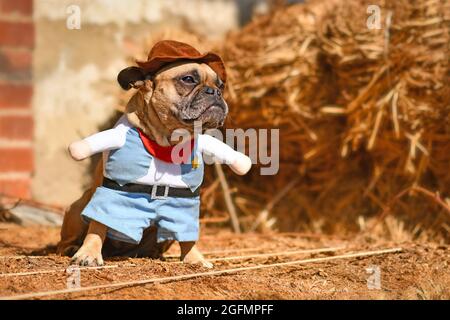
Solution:
[[(74, 264), (97, 266), (103, 254), (160, 257), (178, 241), (181, 261), (211, 268), (196, 247), (202, 152), (240, 175), (251, 167), (250, 158), (221, 141), (195, 136), (195, 123), (213, 129), (225, 121), (225, 67), (214, 53), (167, 40), (138, 65), (118, 75), (122, 88), (137, 91), (117, 125), (69, 146), (75, 160), (103, 152), (103, 162), (93, 187), (67, 211), (57, 250), (76, 251)], [(173, 162), (174, 154), (181, 161)]]

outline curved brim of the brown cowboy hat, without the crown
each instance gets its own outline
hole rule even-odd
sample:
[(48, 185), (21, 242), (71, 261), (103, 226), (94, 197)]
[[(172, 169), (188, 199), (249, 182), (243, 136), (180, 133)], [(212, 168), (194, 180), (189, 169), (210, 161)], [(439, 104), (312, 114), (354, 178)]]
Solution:
[(192, 61), (198, 63), (205, 63), (211, 69), (214, 70), (215, 73), (219, 76), (219, 78), (225, 83), (227, 81), (227, 74), (225, 71), (225, 64), (220, 58), (219, 55), (213, 52), (207, 52), (203, 55), (194, 56), (194, 57), (180, 57), (180, 56), (156, 56), (152, 57), (148, 61), (136, 61), (136, 64), (141, 67), (146, 73), (154, 74), (165, 65), (176, 62), (176, 61)]

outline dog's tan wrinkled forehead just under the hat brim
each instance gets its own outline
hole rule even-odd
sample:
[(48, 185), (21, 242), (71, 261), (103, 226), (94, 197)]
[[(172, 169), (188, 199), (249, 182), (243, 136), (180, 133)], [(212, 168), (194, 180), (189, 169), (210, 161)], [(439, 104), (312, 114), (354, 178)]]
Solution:
[(222, 80), (219, 76), (205, 63), (195, 62), (175, 62), (161, 68), (154, 76), (156, 85), (160, 81), (178, 80), (183, 76), (191, 76), (198, 83), (202, 83), (211, 87), (223, 86)]

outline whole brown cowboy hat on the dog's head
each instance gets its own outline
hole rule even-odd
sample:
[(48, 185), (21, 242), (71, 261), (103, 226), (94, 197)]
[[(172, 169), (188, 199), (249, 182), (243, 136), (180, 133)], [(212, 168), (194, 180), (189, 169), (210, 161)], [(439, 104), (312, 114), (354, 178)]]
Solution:
[(217, 73), (224, 83), (227, 81), (225, 65), (220, 56), (212, 52), (201, 54), (194, 47), (179, 41), (163, 40), (157, 42), (150, 50), (147, 61), (136, 61), (136, 63), (145, 73), (151, 74), (164, 65), (179, 60), (205, 63)]

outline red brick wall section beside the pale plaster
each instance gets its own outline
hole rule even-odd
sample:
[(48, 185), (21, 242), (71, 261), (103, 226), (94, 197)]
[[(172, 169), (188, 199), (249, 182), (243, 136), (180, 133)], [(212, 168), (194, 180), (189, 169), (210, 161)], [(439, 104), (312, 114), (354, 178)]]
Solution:
[(0, 194), (30, 197), (33, 0), (0, 0)]

